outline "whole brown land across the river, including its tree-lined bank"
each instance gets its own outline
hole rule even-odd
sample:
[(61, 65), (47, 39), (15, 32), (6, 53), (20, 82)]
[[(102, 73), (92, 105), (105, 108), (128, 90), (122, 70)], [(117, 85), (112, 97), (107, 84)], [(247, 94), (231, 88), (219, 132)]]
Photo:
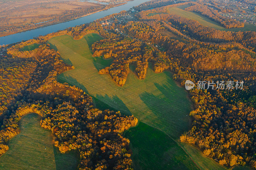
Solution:
[(57, 24), (113, 5), (79, 0), (0, 0), (0, 36)]

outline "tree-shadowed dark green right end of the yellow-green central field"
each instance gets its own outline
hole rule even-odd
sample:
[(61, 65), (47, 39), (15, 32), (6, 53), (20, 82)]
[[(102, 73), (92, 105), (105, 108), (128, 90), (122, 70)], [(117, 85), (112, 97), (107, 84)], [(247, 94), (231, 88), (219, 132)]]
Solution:
[(162, 122), (158, 127), (173, 138), (179, 138), (189, 128), (187, 116), (190, 112), (189, 100), (185, 95), (184, 97), (180, 95), (177, 87), (174, 88), (169, 83), (164, 85), (155, 83), (155, 85), (162, 94), (156, 96), (143, 92), (139, 95), (140, 99)]

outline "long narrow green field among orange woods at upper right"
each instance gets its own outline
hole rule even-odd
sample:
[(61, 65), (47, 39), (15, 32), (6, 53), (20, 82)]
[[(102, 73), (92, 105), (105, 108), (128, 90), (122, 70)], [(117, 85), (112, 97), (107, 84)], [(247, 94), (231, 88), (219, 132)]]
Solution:
[(184, 9), (187, 8), (188, 5), (181, 5), (178, 7), (171, 7), (169, 8), (170, 13), (172, 14), (177, 14), (180, 15), (181, 17), (189, 18), (189, 19), (194, 19), (198, 21), (200, 24), (203, 26), (209, 26), (221, 31), (255, 31), (256, 26), (253, 26), (252, 24), (244, 24), (243, 28), (224, 28), (221, 26), (219, 23), (212, 21), (211, 19), (204, 17), (196, 12), (191, 12), (191, 11), (185, 11)]

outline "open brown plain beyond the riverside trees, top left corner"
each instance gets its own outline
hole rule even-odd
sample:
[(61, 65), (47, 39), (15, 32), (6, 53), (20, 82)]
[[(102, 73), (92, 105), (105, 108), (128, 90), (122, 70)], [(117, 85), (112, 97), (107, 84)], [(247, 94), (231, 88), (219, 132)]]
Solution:
[(99, 6), (88, 2), (54, 0), (4, 3), (0, 5), (0, 27), (35, 24), (52, 20), (56, 15)]

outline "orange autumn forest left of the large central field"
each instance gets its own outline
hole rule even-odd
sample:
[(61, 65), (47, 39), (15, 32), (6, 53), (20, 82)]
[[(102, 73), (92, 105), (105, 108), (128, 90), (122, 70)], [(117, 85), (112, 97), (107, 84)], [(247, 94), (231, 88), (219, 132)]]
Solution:
[[(54, 145), (61, 153), (79, 153), (78, 169), (131, 168), (129, 140), (122, 133), (138, 120), (119, 111), (101, 111), (83, 90), (56, 81), (56, 75), (74, 66), (64, 64), (59, 52), (46, 41), (61, 34), (80, 39), (99, 33), (85, 27), (7, 45), (7, 55), (1, 57), (1, 154), (8, 150), (9, 139), (20, 132), (20, 118), (37, 113), (42, 117), (42, 128), (52, 131)], [(31, 51), (20, 50), (35, 43), (41, 45)]]

